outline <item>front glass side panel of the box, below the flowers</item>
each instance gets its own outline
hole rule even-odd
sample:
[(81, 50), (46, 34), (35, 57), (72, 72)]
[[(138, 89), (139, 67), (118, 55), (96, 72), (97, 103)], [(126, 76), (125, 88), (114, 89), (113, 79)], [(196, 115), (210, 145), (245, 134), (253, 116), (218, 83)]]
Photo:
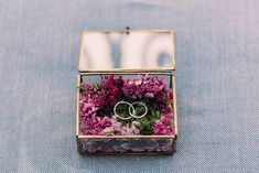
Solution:
[(82, 154), (160, 153), (173, 154), (174, 138), (80, 139)]

